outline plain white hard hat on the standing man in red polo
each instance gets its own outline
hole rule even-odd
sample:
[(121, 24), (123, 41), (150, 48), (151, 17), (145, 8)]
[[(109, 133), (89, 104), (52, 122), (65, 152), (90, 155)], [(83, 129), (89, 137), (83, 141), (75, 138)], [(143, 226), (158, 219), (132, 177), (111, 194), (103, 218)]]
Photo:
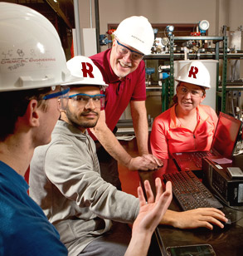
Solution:
[(124, 19), (114, 32), (120, 42), (137, 49), (143, 54), (150, 54), (153, 47), (154, 33), (148, 19), (143, 16), (132, 16)]

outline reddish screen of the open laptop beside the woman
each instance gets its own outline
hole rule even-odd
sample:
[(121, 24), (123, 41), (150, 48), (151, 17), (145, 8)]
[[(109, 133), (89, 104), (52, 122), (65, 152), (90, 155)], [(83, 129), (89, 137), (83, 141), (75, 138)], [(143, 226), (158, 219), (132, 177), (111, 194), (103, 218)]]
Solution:
[(232, 155), (240, 129), (240, 120), (220, 112), (211, 149), (221, 155)]

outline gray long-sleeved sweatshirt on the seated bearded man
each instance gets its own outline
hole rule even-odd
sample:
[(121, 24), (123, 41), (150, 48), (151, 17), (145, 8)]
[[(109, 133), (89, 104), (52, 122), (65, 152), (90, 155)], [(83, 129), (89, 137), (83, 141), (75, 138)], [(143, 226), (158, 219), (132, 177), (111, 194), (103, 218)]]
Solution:
[(111, 219), (134, 222), (139, 199), (100, 177), (90, 135), (58, 121), (51, 137), (51, 143), (37, 147), (33, 155), (30, 195), (55, 225), (69, 255), (77, 255), (109, 231)]

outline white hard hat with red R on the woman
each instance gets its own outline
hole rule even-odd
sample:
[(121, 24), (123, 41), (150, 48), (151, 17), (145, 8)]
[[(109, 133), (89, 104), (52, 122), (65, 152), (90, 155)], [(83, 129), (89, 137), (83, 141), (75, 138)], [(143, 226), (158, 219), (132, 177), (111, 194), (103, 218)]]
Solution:
[(210, 88), (210, 74), (207, 67), (200, 61), (192, 61), (183, 66), (175, 81), (184, 81), (193, 85)]

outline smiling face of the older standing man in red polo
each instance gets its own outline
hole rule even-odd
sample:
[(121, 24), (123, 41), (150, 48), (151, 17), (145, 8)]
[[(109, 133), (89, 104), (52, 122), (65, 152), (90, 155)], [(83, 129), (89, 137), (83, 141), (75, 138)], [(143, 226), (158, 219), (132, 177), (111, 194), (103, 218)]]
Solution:
[[(121, 42), (125, 47), (129, 47), (128, 45), (124, 44), (123, 42)], [(133, 61), (132, 60), (132, 53), (129, 52), (126, 55), (123, 55), (119, 52), (119, 44), (117, 42), (116, 39), (114, 39), (113, 41), (113, 47), (111, 49), (111, 53), (110, 53), (110, 66), (112, 67), (114, 73), (116, 76), (119, 76), (119, 78), (122, 78), (124, 76), (129, 75), (129, 73), (135, 71), (137, 69), (137, 67), (139, 66), (139, 63), (141, 62), (141, 60), (139, 61)], [(136, 49), (129, 47), (129, 49), (136, 51)], [(138, 52), (138, 51), (136, 51)], [(141, 53), (141, 55), (143, 55)], [(142, 58), (141, 58), (142, 59)]]

